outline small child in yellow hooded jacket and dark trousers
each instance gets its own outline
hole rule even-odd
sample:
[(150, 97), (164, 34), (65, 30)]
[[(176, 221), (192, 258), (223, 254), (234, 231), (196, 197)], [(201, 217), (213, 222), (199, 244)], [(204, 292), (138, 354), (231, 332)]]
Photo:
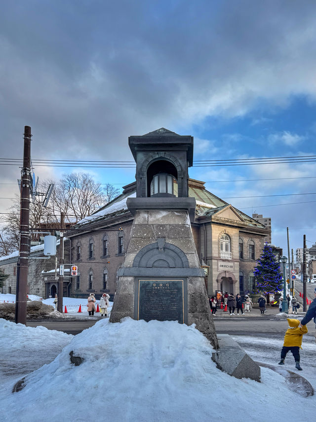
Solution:
[(288, 318), (287, 322), (290, 328), (286, 330), (281, 350), (281, 360), (278, 364), (284, 365), (286, 354), (290, 350), (295, 359), (295, 368), (302, 371), (300, 366), (300, 348), (302, 348), (303, 334), (306, 334), (308, 329), (306, 326), (299, 327), (299, 320), (290, 320)]

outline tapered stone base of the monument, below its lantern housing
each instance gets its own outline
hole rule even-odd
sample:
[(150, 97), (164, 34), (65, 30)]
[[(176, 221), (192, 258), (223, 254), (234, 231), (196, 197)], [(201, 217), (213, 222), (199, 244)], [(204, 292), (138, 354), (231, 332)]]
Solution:
[[(137, 201), (130, 241), (119, 272), (110, 322), (124, 317), (178, 321), (201, 331), (218, 348), (203, 270), (187, 209), (139, 209)], [(192, 198), (187, 198), (192, 199)]]

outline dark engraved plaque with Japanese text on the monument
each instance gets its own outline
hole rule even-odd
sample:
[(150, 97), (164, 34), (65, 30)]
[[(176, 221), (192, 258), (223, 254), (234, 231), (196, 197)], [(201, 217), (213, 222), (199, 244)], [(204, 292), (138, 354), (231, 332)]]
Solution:
[(137, 319), (184, 324), (184, 281), (138, 280)]

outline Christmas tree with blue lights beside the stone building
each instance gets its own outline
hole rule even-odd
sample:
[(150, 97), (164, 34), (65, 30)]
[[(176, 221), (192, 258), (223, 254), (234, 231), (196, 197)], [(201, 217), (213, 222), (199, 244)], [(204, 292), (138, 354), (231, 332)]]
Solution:
[(266, 243), (263, 253), (257, 259), (257, 266), (253, 271), (255, 288), (253, 293), (269, 294), (282, 290), (282, 275), (275, 254), (271, 247)]

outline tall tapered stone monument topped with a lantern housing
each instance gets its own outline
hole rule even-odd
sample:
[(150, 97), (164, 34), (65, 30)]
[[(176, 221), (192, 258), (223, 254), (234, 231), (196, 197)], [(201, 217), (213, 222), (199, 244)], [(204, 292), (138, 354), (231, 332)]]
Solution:
[(131, 136), (128, 143), (136, 161), (136, 197), (127, 199), (127, 207), (135, 217), (110, 322), (128, 316), (194, 323), (217, 349), (191, 230), (196, 206), (195, 198), (188, 197), (193, 137), (161, 128)]

